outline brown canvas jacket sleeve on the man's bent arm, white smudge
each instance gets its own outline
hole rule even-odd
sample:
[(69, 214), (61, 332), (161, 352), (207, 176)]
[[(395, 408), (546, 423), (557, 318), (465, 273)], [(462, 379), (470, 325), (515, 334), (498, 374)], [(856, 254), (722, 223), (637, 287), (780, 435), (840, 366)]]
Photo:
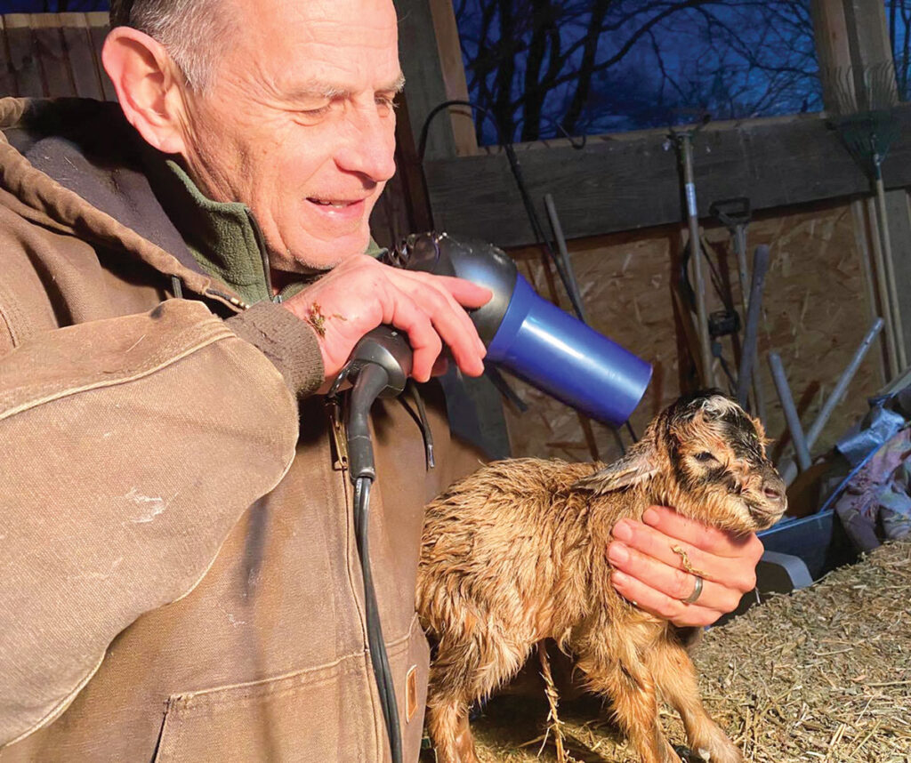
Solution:
[(187, 595), (281, 480), (292, 392), (199, 302), (0, 357), (0, 747), (59, 715), (138, 615)]

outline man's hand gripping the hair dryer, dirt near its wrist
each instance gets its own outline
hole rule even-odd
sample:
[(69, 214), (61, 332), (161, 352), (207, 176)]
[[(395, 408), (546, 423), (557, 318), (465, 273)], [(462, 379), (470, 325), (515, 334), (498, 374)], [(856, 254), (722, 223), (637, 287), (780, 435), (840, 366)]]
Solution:
[(357, 255), (282, 304), (301, 320), (319, 324), (325, 391), (354, 345), (381, 323), (408, 335), (418, 382), (430, 378), (444, 343), (459, 369), (480, 376), (486, 348), (465, 308), (479, 308), (491, 296), (467, 280), (399, 270)]

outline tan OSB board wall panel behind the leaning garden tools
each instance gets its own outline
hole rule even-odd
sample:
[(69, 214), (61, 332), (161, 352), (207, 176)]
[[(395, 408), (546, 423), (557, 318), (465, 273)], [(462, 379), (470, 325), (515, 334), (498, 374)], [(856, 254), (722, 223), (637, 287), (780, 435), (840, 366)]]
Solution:
[[(725, 229), (706, 229), (705, 238), (714, 254), (726, 259), (731, 273), (734, 304), (741, 295), (737, 263)], [(766, 399), (766, 428), (770, 437), (782, 440), (785, 425), (781, 405), (768, 370), (770, 350), (781, 354), (794, 400), (802, 414), (804, 430), (835, 380), (844, 370), (870, 323), (866, 299), (865, 267), (857, 245), (849, 206), (808, 209), (793, 214), (754, 220), (748, 230), (748, 248), (766, 243), (772, 261), (763, 298), (759, 336), (760, 371)], [(602, 237), (570, 242), (570, 259), (576, 270), (589, 312), (598, 331), (618, 341), (654, 364), (649, 391), (633, 414), (631, 423), (642, 432), (650, 418), (680, 393), (672, 296), (671, 248), (681, 246), (678, 229), (640, 232), (635, 238)], [(534, 250), (513, 252), (520, 269), (542, 294), (548, 283)], [(561, 304), (568, 301), (561, 295)], [(711, 293), (709, 309), (721, 307)], [(730, 340), (723, 341), (724, 356), (733, 363)], [(834, 412), (814, 453), (829, 448), (866, 410), (866, 398), (882, 386), (878, 345), (868, 354), (851, 384), (846, 399)], [(718, 378), (723, 379), (719, 370)], [(566, 406), (520, 382), (515, 387), (530, 410), (518, 415), (507, 411), (513, 454), (589, 458), (589, 448), (578, 416)], [(599, 456), (612, 460), (619, 455), (614, 436), (594, 425)], [(629, 434), (623, 437), (630, 442)], [(778, 443), (777, 451), (786, 444)]]

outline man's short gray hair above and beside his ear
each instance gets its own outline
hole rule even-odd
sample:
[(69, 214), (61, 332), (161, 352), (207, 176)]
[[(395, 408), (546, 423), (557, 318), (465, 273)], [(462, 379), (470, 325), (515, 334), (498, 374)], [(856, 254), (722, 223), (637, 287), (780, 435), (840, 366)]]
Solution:
[(230, 0), (111, 0), (110, 10), (111, 26), (158, 40), (195, 90), (211, 84), (232, 15)]

